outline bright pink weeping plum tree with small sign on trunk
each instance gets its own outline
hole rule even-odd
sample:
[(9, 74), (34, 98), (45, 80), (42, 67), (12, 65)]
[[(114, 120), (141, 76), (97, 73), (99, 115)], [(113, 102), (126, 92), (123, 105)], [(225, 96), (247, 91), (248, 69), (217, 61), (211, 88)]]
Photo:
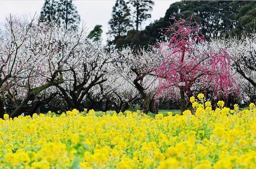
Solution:
[(157, 97), (181, 99), (181, 114), (198, 86), (210, 86), (214, 95), (227, 96), (235, 84), (226, 50), (208, 45), (199, 25), (191, 21), (192, 17), (190, 22), (175, 20), (175, 26), (166, 28), (169, 40), (159, 47), (160, 54), (169, 50), (169, 55), (154, 69), (159, 77)]

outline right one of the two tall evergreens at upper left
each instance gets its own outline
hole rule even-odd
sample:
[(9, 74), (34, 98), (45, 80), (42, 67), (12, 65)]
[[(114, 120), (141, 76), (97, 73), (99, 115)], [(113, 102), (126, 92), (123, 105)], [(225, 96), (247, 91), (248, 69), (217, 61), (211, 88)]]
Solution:
[(59, 1), (58, 13), (65, 30), (77, 28), (80, 23), (80, 15), (72, 1)]

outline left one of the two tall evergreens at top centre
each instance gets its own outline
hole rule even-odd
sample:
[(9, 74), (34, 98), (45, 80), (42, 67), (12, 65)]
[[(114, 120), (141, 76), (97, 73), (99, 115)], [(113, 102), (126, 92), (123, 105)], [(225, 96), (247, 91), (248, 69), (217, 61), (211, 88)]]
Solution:
[(116, 1), (112, 10), (112, 18), (109, 20), (109, 34), (112, 37), (119, 38), (127, 33), (131, 28), (129, 2)]

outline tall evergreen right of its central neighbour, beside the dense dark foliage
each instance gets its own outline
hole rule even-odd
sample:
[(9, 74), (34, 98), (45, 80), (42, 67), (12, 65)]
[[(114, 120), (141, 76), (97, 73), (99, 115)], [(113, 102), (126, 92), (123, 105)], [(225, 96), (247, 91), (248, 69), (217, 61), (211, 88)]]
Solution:
[(133, 15), (135, 18), (136, 31), (139, 30), (139, 25), (148, 18), (151, 18), (150, 12), (152, 11), (152, 6), (155, 4), (154, 1), (130, 1), (133, 8)]

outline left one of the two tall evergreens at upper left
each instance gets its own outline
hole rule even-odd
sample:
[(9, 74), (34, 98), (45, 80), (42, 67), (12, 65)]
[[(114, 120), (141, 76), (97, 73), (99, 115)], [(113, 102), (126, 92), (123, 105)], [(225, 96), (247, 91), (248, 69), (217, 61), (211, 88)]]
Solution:
[(41, 13), (39, 22), (58, 22), (60, 24), (60, 21), (58, 19), (58, 1), (45, 1)]

